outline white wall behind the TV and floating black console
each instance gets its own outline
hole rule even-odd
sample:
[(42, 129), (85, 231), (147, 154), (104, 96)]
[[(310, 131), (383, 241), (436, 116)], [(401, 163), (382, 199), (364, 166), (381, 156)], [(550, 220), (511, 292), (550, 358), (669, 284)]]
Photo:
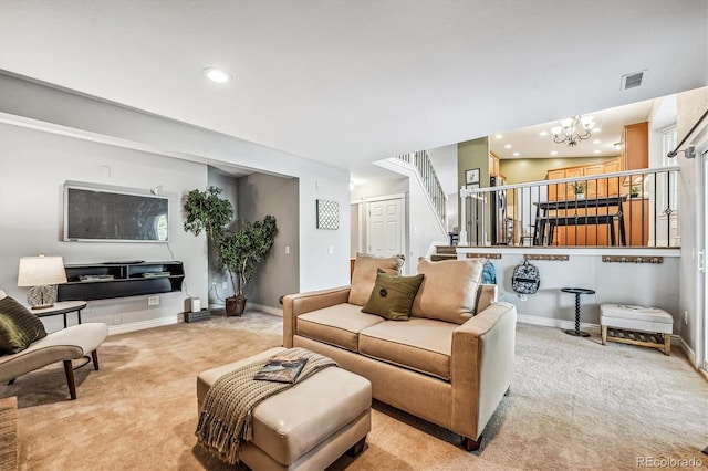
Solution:
[[(140, 189), (160, 186), (170, 203), (169, 243), (63, 242), (65, 180)], [(66, 264), (180, 260), (186, 275), (183, 292), (160, 294), (158, 306), (148, 307), (147, 296), (134, 296), (92, 301), (82, 313), (83, 322), (108, 325), (175, 322), (185, 311), (186, 297), (207, 294), (206, 239), (183, 230), (180, 203), (186, 191), (206, 181), (201, 164), (0, 124), (0, 286), (24, 302), (28, 289), (17, 286), (19, 258), (40, 252), (62, 255)], [(62, 316), (42, 321), (51, 331), (63, 327)]]

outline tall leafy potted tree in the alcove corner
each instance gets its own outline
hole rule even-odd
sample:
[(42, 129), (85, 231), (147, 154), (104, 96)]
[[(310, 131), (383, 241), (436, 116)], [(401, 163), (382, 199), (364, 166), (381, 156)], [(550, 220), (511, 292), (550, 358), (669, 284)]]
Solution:
[(241, 315), (246, 306), (243, 286), (256, 274), (258, 264), (268, 255), (278, 234), (275, 218), (267, 216), (263, 221), (241, 223), (236, 232), (228, 230), (233, 219), (233, 206), (220, 198), (221, 188), (209, 187), (206, 191), (191, 190), (185, 200), (184, 229), (199, 236), (205, 231), (217, 254), (219, 268), (227, 270), (233, 296), (226, 299), (226, 313)]

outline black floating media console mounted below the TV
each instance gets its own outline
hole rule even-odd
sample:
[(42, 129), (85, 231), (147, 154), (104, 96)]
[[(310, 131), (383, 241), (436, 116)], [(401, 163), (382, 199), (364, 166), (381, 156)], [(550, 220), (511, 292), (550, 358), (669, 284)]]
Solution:
[(59, 301), (92, 301), (111, 297), (181, 291), (181, 262), (104, 262), (65, 265), (66, 283), (56, 286)]

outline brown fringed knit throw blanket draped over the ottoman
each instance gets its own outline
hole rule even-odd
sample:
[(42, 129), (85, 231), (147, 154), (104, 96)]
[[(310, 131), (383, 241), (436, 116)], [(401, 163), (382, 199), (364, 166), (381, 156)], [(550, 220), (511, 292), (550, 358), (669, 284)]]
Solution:
[(294, 384), (254, 380), (253, 376), (270, 359), (263, 358), (227, 373), (207, 391), (199, 414), (197, 441), (229, 464), (240, 461), (241, 444), (252, 438), (252, 412), (258, 404), (308, 379), (321, 369), (337, 366), (332, 358), (304, 348), (290, 348), (278, 356), (308, 358)]

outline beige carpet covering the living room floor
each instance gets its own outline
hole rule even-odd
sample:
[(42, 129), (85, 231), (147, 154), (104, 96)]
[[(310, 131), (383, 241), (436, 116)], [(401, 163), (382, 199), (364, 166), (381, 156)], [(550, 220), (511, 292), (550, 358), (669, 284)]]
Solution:
[[(280, 345), (281, 328), (247, 313), (111, 336), (101, 371), (76, 371), (75, 401), (61, 364), (0, 386), (0, 397), (19, 397), (20, 469), (229, 469), (195, 446), (197, 373)], [(642, 457), (708, 468), (708, 381), (678, 348), (666, 357), (520, 324), (512, 391), (482, 449), (468, 453), (458, 439), (375, 402), (366, 449), (332, 469), (612, 470)]]

